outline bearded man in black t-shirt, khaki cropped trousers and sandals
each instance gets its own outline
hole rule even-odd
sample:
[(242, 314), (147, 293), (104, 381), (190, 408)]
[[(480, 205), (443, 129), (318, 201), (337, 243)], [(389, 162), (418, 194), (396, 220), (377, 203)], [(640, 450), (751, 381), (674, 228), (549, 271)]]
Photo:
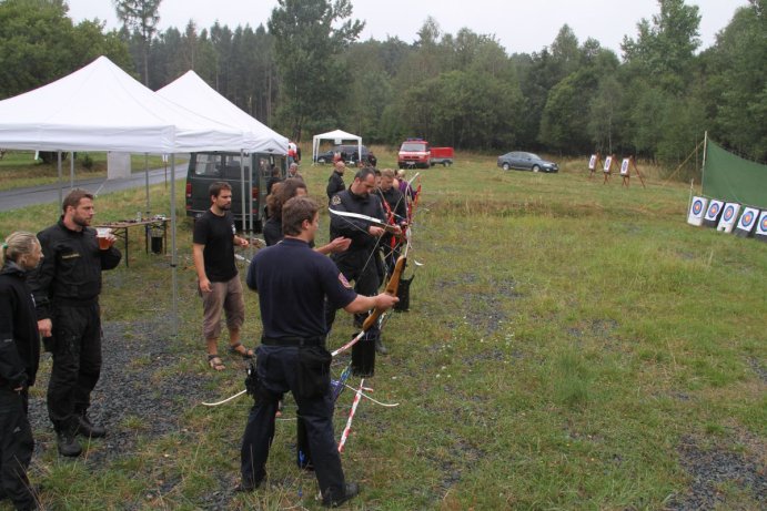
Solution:
[(242, 284), (234, 264), (234, 245), (246, 247), (248, 239), (236, 235), (232, 207), (232, 187), (216, 182), (209, 188), (211, 207), (194, 223), (192, 255), (202, 296), (202, 330), (208, 344), (208, 365), (216, 371), (225, 369), (219, 357), (221, 313), (226, 314), (229, 351), (253, 358), (253, 350), (240, 341), (245, 319)]

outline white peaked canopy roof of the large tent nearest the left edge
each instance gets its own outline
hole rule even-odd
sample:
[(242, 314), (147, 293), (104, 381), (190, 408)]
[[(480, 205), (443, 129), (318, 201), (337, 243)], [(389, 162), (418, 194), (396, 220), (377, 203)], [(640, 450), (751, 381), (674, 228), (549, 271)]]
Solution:
[(105, 57), (0, 101), (0, 147), (173, 153), (240, 151), (242, 130), (183, 109)]

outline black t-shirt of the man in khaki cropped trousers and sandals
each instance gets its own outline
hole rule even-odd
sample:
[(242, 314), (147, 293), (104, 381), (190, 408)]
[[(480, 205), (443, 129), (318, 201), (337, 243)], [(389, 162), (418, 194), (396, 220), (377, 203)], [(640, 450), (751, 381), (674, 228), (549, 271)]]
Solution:
[(212, 283), (231, 280), (238, 275), (234, 265), (234, 234), (236, 227), (230, 212), (223, 216), (208, 209), (194, 223), (192, 243), (204, 245), (205, 275)]

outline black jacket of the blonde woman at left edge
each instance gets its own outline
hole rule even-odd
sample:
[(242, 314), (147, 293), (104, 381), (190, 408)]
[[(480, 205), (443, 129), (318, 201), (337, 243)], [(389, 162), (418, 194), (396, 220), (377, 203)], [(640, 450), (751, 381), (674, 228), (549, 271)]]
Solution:
[(0, 388), (34, 384), (40, 364), (40, 337), (32, 292), (16, 263), (0, 270)]

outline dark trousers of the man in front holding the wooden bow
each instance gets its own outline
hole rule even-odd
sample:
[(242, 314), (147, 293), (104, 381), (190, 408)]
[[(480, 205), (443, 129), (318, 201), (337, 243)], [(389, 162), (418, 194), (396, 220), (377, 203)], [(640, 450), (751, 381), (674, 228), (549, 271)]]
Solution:
[(280, 346), (258, 348), (256, 374), (261, 390), (251, 408), (242, 438), (242, 481), (244, 484), (259, 483), (266, 477), (266, 459), (274, 438), (274, 415), (277, 402), (290, 390), (299, 405), (299, 417), (306, 427), (314, 473), (322, 494), (343, 495), (345, 480), (333, 431), (333, 397), (330, 388), (319, 398), (300, 396), (296, 377), (299, 349)]

